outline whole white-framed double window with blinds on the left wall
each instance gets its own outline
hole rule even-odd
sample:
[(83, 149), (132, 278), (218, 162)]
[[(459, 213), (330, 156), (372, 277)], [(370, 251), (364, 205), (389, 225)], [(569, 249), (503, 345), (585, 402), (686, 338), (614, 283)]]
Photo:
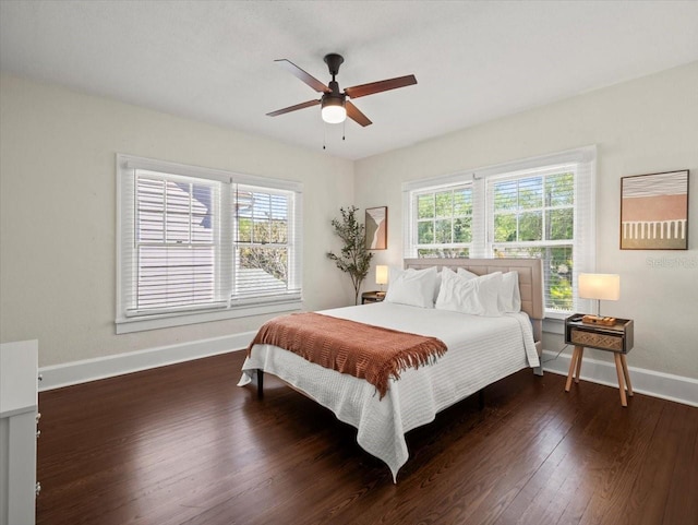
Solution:
[(117, 156), (117, 332), (296, 309), (300, 184)]

